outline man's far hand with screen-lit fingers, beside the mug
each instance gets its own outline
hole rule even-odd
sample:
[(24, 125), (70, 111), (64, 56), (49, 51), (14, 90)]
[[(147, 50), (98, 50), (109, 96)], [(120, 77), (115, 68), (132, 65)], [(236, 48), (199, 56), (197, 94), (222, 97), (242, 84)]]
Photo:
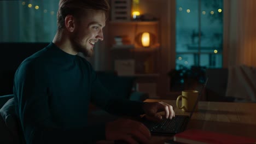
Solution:
[(175, 116), (172, 106), (162, 101), (145, 102), (143, 110), (147, 118), (152, 119), (153, 121), (159, 121), (162, 119), (162, 116), (158, 113), (160, 111), (165, 111), (166, 118), (172, 119)]

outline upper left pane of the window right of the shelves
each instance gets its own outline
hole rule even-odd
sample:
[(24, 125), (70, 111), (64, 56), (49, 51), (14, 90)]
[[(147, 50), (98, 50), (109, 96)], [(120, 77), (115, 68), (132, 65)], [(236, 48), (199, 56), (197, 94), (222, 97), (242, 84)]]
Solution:
[[(199, 14), (198, 0), (177, 0), (176, 7), (176, 51), (198, 51)], [(194, 49), (195, 48), (195, 49)]]

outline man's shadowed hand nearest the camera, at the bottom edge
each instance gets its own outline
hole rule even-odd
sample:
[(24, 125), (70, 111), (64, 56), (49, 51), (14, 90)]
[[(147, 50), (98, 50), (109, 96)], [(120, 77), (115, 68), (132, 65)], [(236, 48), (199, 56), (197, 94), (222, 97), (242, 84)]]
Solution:
[(120, 118), (106, 124), (107, 140), (125, 140), (128, 143), (149, 143), (151, 134), (148, 128), (131, 119)]

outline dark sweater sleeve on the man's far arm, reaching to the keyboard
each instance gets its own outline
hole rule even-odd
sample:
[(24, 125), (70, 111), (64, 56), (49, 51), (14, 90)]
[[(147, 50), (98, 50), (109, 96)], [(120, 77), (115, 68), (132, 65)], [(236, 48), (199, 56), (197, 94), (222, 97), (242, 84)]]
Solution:
[(92, 70), (92, 103), (101, 107), (109, 113), (119, 116), (138, 116), (144, 114), (142, 101), (132, 101), (111, 97), (106, 89)]

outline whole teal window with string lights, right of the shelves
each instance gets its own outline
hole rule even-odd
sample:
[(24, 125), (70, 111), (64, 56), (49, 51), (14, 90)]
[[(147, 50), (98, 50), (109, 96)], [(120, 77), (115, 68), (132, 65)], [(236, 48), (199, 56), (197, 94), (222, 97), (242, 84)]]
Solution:
[(176, 69), (222, 68), (223, 0), (176, 0)]

